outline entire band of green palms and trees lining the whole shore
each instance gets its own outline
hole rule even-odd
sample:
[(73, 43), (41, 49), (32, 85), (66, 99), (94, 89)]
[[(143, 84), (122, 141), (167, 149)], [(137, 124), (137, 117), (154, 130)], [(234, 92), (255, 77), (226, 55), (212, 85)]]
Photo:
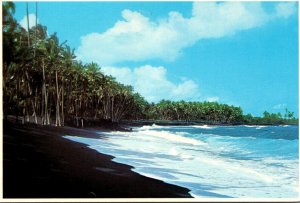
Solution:
[[(28, 5), (27, 5), (28, 6)], [(35, 23), (24, 29), (13, 18), (12, 2), (3, 9), (3, 113), (43, 125), (76, 126), (83, 120), (172, 120), (212, 124), (298, 123), (292, 112), (243, 115), (240, 107), (217, 102), (148, 103), (131, 86), (101, 72), (95, 63), (75, 60), (74, 50), (56, 33)], [(36, 11), (37, 12), (37, 11)], [(36, 13), (37, 15), (37, 13)], [(28, 7), (27, 7), (27, 24)]]

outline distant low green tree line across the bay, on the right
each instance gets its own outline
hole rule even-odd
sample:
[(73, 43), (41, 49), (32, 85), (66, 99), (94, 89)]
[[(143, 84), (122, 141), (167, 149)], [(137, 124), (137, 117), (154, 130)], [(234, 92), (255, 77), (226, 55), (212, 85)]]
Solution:
[(243, 115), (240, 107), (217, 102), (185, 102), (162, 100), (147, 108), (145, 118), (155, 120), (192, 121), (207, 124), (283, 125), (298, 124), (294, 113), (285, 109), (285, 114), (265, 111), (263, 117)]

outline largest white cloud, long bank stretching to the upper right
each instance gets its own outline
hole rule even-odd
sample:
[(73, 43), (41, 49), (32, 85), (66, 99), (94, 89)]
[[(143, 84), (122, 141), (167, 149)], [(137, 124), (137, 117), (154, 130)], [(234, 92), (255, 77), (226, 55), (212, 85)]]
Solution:
[(167, 18), (152, 21), (139, 12), (123, 10), (123, 19), (113, 27), (81, 37), (76, 55), (84, 62), (101, 65), (174, 60), (183, 48), (201, 39), (225, 37), (259, 27), (277, 17), (287, 18), (295, 11), (295, 3), (278, 3), (275, 13), (270, 14), (259, 2), (195, 2), (190, 18), (172, 11)]

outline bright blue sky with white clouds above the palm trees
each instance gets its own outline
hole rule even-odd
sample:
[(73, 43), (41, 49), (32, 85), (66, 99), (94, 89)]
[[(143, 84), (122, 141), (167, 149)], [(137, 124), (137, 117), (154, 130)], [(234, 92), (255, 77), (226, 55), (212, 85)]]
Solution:
[[(34, 22), (35, 3), (29, 10)], [(24, 26), (25, 13), (17, 2)], [(253, 115), (287, 107), (298, 116), (295, 2), (40, 2), (38, 21), (148, 101), (218, 101)]]

